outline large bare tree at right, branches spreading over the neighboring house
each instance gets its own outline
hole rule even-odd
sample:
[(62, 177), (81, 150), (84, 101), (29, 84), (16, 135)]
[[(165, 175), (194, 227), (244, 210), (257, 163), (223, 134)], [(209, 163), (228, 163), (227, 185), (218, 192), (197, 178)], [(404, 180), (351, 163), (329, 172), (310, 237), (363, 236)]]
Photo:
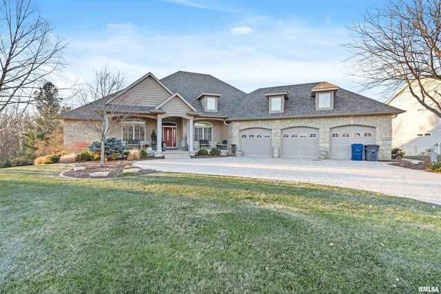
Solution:
[(441, 118), (441, 0), (390, 0), (367, 8), (353, 23), (351, 74), (362, 90), (383, 86), (391, 94), (407, 86), (411, 95)]

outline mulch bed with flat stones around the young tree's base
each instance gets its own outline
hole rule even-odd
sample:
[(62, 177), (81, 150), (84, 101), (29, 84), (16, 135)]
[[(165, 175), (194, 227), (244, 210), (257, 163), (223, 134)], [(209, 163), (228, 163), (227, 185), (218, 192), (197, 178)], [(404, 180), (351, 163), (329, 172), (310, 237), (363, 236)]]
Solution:
[[(70, 178), (116, 178), (117, 176), (134, 176), (134, 175), (146, 175), (146, 174), (154, 174), (155, 170), (152, 169), (141, 169), (138, 173), (133, 174), (124, 174), (124, 167), (133, 167), (132, 163), (135, 161), (131, 160), (114, 160), (105, 162), (105, 167), (99, 167), (99, 162), (96, 161), (88, 161), (88, 162), (79, 162), (75, 163), (75, 167), (85, 167), (86, 169), (83, 171), (65, 171), (63, 176), (68, 176)], [(98, 171), (110, 171), (110, 174), (107, 176), (100, 177), (90, 177), (89, 175)]]

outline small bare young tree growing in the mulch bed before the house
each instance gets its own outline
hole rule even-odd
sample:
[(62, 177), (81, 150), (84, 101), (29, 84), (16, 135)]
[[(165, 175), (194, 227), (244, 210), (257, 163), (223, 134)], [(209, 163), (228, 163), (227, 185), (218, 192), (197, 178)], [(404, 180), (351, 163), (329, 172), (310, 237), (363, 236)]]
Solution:
[(100, 167), (104, 166), (105, 139), (110, 136), (126, 118), (132, 116), (136, 101), (120, 95), (125, 84), (125, 75), (112, 73), (105, 65), (95, 71), (95, 79), (80, 92), (85, 104), (87, 127), (96, 134), (101, 142)]

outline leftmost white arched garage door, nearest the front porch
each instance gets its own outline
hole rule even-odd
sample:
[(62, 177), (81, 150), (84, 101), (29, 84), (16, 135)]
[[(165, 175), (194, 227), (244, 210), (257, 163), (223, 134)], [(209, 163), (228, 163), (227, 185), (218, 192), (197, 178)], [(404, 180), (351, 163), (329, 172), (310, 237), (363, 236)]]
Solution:
[(271, 130), (243, 129), (239, 136), (243, 156), (271, 156)]

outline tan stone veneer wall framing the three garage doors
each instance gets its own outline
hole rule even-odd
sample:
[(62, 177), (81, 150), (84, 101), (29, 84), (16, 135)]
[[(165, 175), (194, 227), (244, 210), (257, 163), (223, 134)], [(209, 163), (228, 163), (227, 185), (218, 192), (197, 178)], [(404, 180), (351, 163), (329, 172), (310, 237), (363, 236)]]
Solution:
[(232, 144), (237, 144), (240, 150), (239, 132), (242, 129), (261, 127), (271, 129), (271, 145), (273, 148), (280, 149), (280, 134), (282, 129), (289, 127), (315, 127), (319, 131), (320, 158), (329, 158), (329, 143), (331, 128), (343, 125), (363, 125), (376, 128), (376, 144), (380, 145), (378, 159), (391, 159), (391, 140), (392, 140), (392, 116), (339, 116), (322, 118), (289, 118), (274, 120), (242, 120), (229, 123)]

